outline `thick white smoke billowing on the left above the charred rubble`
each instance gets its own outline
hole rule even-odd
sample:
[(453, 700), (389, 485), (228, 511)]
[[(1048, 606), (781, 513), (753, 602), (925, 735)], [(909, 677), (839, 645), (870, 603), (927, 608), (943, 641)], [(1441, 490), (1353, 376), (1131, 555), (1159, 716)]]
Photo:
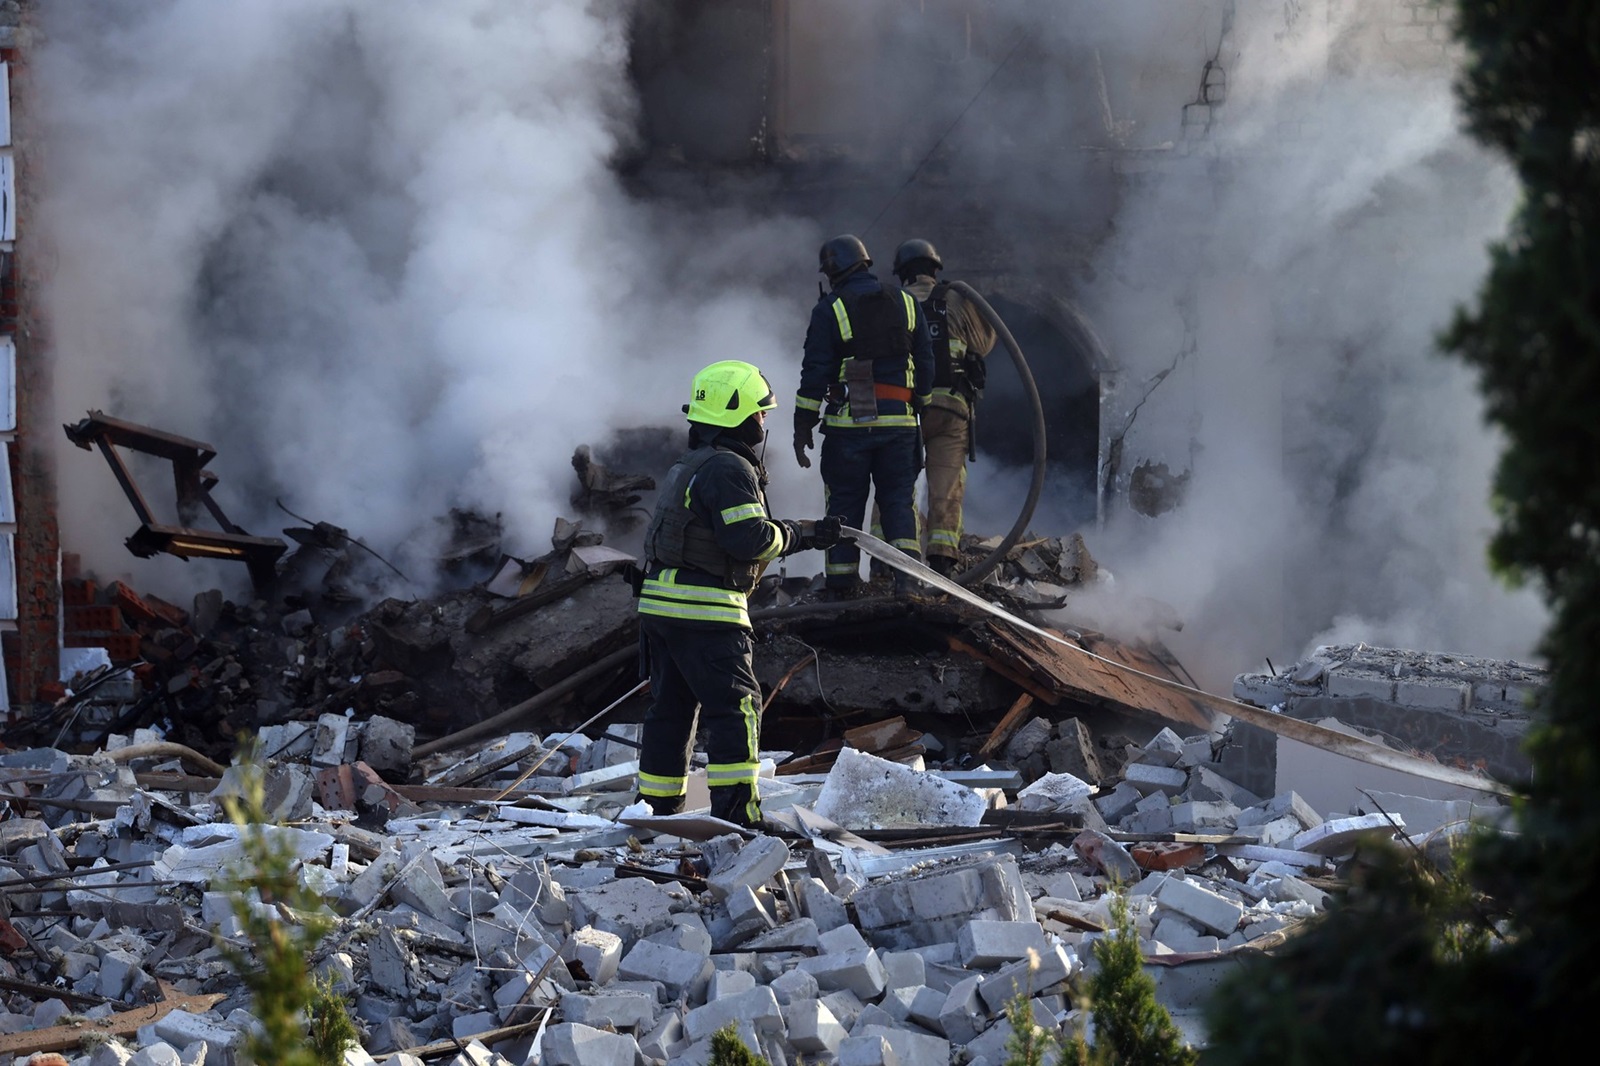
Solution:
[[(758, 275), (712, 285), (810, 230), (720, 218), (699, 234), (718, 266), (685, 277), (621, 192), (626, 5), (162, 0), (40, 21), (61, 419), (104, 408), (216, 445), (214, 495), (254, 533), (298, 525), (282, 496), (387, 552), (459, 506), (538, 554), (576, 445), (682, 424), (696, 368), (798, 343)], [(136, 522), (102, 463), (62, 451), (69, 551), (117, 573)], [(139, 567), (152, 591), (198, 576)]]

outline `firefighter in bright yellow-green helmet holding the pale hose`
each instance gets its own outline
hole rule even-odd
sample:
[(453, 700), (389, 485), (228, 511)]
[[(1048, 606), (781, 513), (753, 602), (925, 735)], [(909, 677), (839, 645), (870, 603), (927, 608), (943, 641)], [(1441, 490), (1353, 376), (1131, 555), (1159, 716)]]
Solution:
[(760, 826), (757, 789), (762, 688), (755, 680), (747, 597), (774, 559), (827, 549), (837, 517), (773, 519), (757, 448), (778, 407), (754, 365), (725, 360), (694, 375), (690, 450), (661, 487), (645, 531), (640, 639), (650, 659), (650, 709), (638, 797), (658, 815), (683, 808), (694, 730), (706, 717), (710, 813)]

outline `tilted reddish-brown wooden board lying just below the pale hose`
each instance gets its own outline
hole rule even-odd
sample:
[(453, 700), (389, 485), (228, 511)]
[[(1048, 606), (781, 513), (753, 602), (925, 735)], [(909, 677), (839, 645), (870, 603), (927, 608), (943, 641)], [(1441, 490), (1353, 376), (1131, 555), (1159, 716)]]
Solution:
[[(1154, 714), (1166, 722), (1197, 730), (1211, 728), (1211, 714), (1205, 703), (1174, 688), (1128, 671), (1118, 671), (1090, 655), (1077, 655), (1070, 648), (1003, 621), (986, 621), (971, 632), (974, 643), (981, 645), (989, 656), (1005, 663), (1008, 674), (1027, 679), (1024, 688), (1035, 695), (1040, 695), (1042, 690), (1048, 693), (1045, 696), (1048, 703), (1069, 698), (1136, 714)], [(1080, 647), (1133, 671), (1165, 677), (1178, 685), (1189, 683), (1173, 672), (1171, 655), (1112, 640), (1104, 634), (1080, 637)]]

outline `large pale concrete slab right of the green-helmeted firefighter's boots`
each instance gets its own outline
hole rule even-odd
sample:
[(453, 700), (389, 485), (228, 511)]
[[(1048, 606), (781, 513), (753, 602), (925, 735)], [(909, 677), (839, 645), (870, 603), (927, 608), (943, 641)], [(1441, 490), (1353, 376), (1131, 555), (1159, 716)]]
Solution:
[(888, 829), (976, 826), (987, 804), (963, 784), (845, 747), (813, 808), (845, 829)]

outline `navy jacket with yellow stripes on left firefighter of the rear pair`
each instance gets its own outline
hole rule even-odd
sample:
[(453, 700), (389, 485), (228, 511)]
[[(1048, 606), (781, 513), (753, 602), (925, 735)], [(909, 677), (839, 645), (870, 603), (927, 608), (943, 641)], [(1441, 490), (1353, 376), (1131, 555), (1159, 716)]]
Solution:
[[(795, 395), (795, 410), (822, 411), (827, 403), (824, 426), (850, 427), (858, 423), (843, 402), (829, 402), (829, 386), (837, 386), (845, 375), (845, 341), (840, 336), (842, 304), (851, 298), (888, 288), (891, 293), (902, 293), (894, 285), (885, 287), (867, 271), (856, 271), (843, 279), (832, 293), (818, 299), (811, 309), (811, 322), (805, 331), (805, 357), (800, 363), (800, 391)], [(933, 339), (928, 335), (928, 320), (914, 298), (902, 296), (907, 307), (910, 355), (885, 355), (872, 360), (872, 379), (880, 386), (910, 391), (917, 397), (917, 407), (926, 405), (933, 394)], [(837, 397), (837, 391), (835, 391)], [(912, 403), (878, 397), (878, 418), (867, 426), (915, 426), (917, 413)]]

